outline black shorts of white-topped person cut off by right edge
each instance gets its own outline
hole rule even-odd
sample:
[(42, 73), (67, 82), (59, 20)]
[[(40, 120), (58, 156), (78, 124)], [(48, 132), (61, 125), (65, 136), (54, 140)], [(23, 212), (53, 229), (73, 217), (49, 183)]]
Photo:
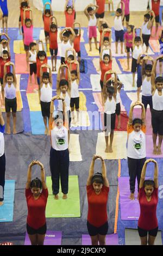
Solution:
[(154, 134), (163, 136), (163, 110), (152, 109), (152, 128)]

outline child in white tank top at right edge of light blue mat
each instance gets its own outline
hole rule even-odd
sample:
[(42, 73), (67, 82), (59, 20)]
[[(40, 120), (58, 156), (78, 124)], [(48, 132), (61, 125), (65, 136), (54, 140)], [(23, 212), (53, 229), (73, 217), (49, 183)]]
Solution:
[[(49, 73), (42, 72), (43, 68), (49, 69)], [(47, 64), (43, 64), (40, 69), (40, 104), (43, 123), (45, 124), (45, 135), (49, 135), (48, 127), (52, 100), (52, 82), (51, 67)]]

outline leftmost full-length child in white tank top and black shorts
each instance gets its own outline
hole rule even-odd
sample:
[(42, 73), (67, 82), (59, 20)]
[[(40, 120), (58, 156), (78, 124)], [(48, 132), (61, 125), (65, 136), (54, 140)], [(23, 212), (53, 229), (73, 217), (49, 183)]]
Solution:
[[(7, 73), (7, 66), (12, 66), (12, 73)], [(5, 96), (5, 112), (7, 114), (7, 134), (11, 133), (10, 130), (10, 111), (12, 110), (13, 117), (13, 134), (16, 131), (16, 111), (17, 111), (17, 101), (16, 101), (16, 74), (15, 74), (15, 65), (12, 62), (7, 62), (4, 65), (4, 96)]]

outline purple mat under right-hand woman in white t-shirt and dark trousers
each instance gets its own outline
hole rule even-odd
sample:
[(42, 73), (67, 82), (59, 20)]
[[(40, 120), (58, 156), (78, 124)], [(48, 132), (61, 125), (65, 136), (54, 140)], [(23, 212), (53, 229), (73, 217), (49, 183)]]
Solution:
[(140, 205), (137, 200), (137, 181), (135, 184), (135, 200), (130, 200), (129, 177), (118, 178), (120, 188), (121, 220), (135, 221), (140, 216)]

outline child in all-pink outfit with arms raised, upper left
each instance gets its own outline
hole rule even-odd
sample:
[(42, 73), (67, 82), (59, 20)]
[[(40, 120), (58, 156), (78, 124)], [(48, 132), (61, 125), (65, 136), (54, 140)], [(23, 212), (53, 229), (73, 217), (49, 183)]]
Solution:
[[(26, 11), (30, 11), (30, 19), (26, 18)], [(27, 71), (29, 71), (29, 45), (33, 42), (33, 15), (32, 9), (25, 9), (23, 15), (24, 50), (26, 51)]]

